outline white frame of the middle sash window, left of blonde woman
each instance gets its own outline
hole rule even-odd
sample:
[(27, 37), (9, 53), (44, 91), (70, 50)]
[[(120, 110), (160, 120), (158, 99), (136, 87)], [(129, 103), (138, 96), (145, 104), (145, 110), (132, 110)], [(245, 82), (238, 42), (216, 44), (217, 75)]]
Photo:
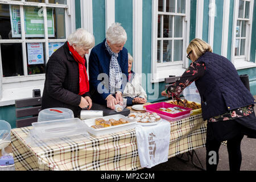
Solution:
[[(164, 78), (169, 75), (180, 76), (185, 68), (188, 67), (187, 52), (185, 51), (189, 44), (189, 26), (190, 26), (190, 1), (185, 0), (185, 14), (182, 13), (163, 13), (158, 12), (158, 1), (152, 0), (152, 33), (151, 33), (151, 82), (164, 81)], [(175, 9), (177, 8), (177, 1), (175, 1)], [(157, 60), (157, 44), (158, 44), (158, 15), (183, 15), (183, 37), (171, 39), (183, 39), (183, 54), (182, 61), (174, 61), (170, 63), (156, 63)], [(173, 30), (174, 31), (174, 30)], [(168, 38), (160, 38), (168, 40)], [(174, 44), (174, 43), (172, 43)], [(174, 49), (174, 47), (172, 47)], [(162, 54), (161, 54), (162, 56)], [(174, 56), (172, 54), (172, 56)], [(173, 60), (173, 59), (172, 59)]]

